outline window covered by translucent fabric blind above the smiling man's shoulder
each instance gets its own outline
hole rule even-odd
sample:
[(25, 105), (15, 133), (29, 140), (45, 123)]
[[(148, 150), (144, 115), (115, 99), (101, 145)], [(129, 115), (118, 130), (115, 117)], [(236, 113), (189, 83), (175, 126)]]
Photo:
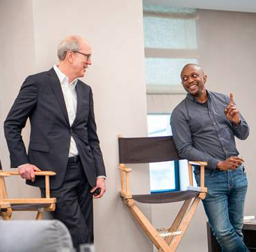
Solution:
[(197, 10), (143, 5), (147, 94), (184, 94), (179, 73), (198, 64)]

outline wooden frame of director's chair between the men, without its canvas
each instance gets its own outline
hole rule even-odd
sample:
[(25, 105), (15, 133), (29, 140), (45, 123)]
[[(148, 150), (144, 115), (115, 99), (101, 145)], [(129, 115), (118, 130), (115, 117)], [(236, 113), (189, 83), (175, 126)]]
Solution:
[[(120, 135), (118, 137), (121, 137)], [(192, 165), (200, 166), (200, 187), (193, 186), (193, 167)], [(198, 208), (201, 199), (205, 199), (207, 194), (207, 188), (205, 187), (205, 166), (207, 162), (189, 162), (189, 187), (188, 190), (195, 190), (200, 192), (193, 201), (192, 199), (187, 199), (184, 201), (182, 208), (179, 210), (173, 224), (170, 228), (163, 228), (157, 230), (152, 226), (150, 221), (143, 215), (143, 212), (136, 205), (131, 191), (130, 191), (130, 173), (131, 168), (125, 167), (125, 164), (119, 165), (120, 178), (121, 178), (121, 190), (120, 196), (122, 196), (122, 201), (127, 205), (132, 215), (138, 221), (138, 224), (143, 228), (145, 234), (150, 238), (154, 246), (157, 247), (159, 252), (173, 252), (176, 251), (179, 242), (182, 240), (186, 229)], [(160, 233), (159, 233), (160, 231)], [(165, 233), (161, 233), (164, 231)]]

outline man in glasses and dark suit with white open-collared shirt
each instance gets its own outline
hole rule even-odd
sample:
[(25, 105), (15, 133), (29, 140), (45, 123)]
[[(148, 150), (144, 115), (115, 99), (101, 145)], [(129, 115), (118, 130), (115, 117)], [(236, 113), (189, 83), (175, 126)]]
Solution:
[[(91, 88), (78, 78), (86, 74), (92, 50), (83, 37), (66, 37), (58, 45), (58, 65), (26, 78), (4, 123), (11, 167), (26, 183), (40, 187), (35, 171), (51, 170), (53, 217), (70, 230), (76, 248), (93, 243), (93, 192), (105, 192), (105, 168), (96, 132)], [(22, 128), (29, 118), (28, 153)], [(98, 190), (97, 190), (98, 191)]]

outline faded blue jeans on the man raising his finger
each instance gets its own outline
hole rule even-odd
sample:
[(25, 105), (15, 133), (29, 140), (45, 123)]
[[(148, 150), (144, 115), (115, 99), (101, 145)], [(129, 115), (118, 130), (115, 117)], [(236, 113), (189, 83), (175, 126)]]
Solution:
[[(200, 185), (200, 169), (195, 168), (195, 180)], [(243, 206), (247, 178), (243, 166), (237, 170), (205, 169), (208, 193), (202, 201), (209, 224), (224, 252), (248, 251), (243, 243)]]

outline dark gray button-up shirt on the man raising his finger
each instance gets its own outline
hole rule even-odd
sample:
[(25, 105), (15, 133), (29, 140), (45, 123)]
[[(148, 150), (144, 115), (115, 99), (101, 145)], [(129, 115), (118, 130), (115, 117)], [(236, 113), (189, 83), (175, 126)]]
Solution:
[(179, 156), (205, 161), (206, 168), (216, 169), (219, 161), (239, 155), (234, 136), (245, 140), (249, 127), (241, 115), (241, 123), (237, 126), (225, 116), (229, 96), (208, 90), (207, 94), (208, 108), (187, 94), (173, 110), (170, 124)]

